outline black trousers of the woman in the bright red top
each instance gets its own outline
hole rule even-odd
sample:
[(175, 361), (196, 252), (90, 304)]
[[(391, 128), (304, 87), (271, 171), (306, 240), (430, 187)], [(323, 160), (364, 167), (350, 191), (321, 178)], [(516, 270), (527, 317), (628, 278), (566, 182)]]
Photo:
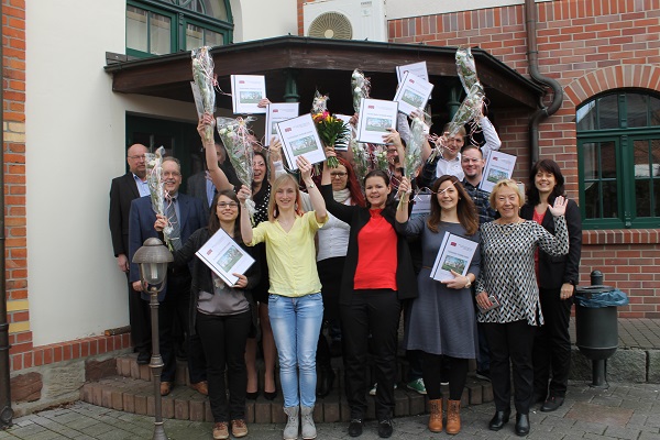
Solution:
[(350, 305), (341, 305), (345, 393), (351, 418), (366, 414), (369, 336), (375, 364), (376, 417), (388, 419), (394, 410), (397, 330), (402, 306), (391, 289), (355, 290)]

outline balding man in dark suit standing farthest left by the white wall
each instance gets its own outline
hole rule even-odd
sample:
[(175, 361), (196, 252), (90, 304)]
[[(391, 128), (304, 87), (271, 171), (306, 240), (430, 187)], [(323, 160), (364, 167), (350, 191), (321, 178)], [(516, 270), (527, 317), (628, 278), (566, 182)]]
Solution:
[(112, 179), (110, 186), (110, 235), (119, 270), (127, 274), (129, 285), (129, 322), (133, 348), (138, 351), (138, 363), (147, 364), (151, 352), (151, 328), (148, 306), (140, 299), (129, 280), (129, 211), (131, 201), (148, 195), (146, 184), (146, 146), (133, 144), (127, 153), (129, 172)]

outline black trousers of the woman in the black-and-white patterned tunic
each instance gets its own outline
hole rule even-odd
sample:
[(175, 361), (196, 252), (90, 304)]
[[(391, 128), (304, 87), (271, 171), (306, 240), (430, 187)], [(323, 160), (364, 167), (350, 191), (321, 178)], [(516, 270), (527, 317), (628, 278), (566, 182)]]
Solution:
[(504, 411), (510, 407), (510, 364), (514, 365), (514, 404), (516, 413), (529, 414), (534, 370), (531, 350), (535, 326), (527, 321), (484, 324), (491, 349), (491, 381), (495, 408)]

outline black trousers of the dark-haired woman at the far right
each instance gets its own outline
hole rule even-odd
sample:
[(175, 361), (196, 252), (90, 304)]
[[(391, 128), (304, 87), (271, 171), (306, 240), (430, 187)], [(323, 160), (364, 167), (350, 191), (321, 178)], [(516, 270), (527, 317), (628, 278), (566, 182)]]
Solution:
[[(571, 369), (569, 320), (573, 298), (561, 299), (560, 289), (539, 292), (544, 323), (534, 340), (534, 392), (542, 397), (564, 397)], [(550, 386), (548, 386), (550, 382)]]

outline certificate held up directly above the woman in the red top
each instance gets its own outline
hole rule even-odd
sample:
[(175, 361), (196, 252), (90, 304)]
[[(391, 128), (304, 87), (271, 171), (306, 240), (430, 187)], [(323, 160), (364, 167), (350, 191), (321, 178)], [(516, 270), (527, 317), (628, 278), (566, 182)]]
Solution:
[(364, 98), (360, 105), (358, 121), (358, 142), (384, 144), (387, 129), (396, 129), (398, 102)]

